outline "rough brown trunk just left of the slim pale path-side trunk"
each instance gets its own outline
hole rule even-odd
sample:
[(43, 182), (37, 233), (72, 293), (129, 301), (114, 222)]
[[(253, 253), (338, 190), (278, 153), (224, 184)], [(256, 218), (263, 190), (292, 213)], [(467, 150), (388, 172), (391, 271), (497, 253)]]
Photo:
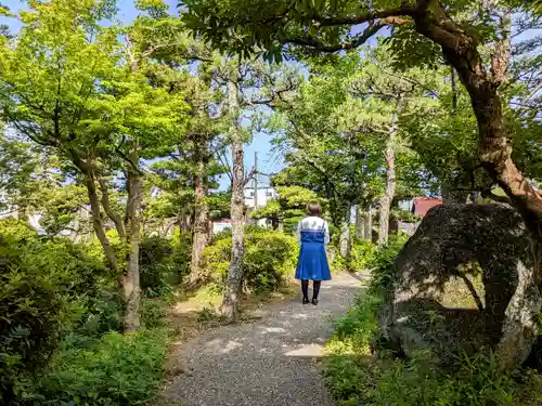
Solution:
[(203, 154), (203, 150), (196, 152), (197, 163), (194, 174), (194, 232), (192, 234), (192, 259), (189, 276), (189, 286), (192, 289), (205, 281), (202, 259), (203, 251), (209, 240), (209, 207), (206, 202), (207, 183)]

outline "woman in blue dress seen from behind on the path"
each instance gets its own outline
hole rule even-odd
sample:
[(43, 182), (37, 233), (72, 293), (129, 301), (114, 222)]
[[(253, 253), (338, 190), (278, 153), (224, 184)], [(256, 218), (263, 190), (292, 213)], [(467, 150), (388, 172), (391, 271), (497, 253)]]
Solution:
[(302, 303), (309, 303), (309, 280), (312, 280), (312, 304), (318, 304), (322, 280), (330, 280), (330, 265), (325, 247), (330, 243), (330, 228), (322, 219), (322, 207), (318, 201), (307, 206), (308, 217), (297, 226), (297, 241), (301, 245), (297, 261), (296, 279), (301, 280)]

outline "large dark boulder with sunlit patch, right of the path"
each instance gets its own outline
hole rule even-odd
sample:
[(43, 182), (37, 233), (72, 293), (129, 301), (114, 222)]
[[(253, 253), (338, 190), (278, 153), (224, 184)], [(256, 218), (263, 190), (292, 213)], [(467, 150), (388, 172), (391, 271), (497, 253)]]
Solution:
[(521, 217), (500, 205), (433, 208), (395, 262), (379, 315), (384, 338), (408, 356), (439, 362), (494, 349), (504, 368), (535, 339), (541, 297)]

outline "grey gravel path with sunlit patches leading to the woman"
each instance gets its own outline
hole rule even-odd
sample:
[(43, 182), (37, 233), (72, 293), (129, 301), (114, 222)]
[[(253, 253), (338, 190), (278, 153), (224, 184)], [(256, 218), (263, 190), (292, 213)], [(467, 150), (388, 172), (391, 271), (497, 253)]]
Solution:
[(298, 299), (260, 311), (254, 323), (219, 327), (189, 341), (185, 366), (168, 383), (160, 406), (333, 406), (317, 359), (360, 290), (361, 277), (334, 275), (318, 306)]

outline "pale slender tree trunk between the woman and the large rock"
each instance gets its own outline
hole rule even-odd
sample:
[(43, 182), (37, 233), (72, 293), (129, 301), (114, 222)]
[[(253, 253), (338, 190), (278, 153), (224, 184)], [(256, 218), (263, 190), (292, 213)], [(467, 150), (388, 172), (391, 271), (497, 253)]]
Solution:
[(399, 115), (401, 114), (402, 101), (397, 103), (397, 110), (391, 118), (391, 127), (389, 129), (388, 142), (386, 145), (386, 192), (380, 200), (380, 217), (378, 227), (378, 246), (383, 247), (388, 244), (389, 235), (389, 212), (391, 204), (396, 196), (396, 136), (399, 130)]

